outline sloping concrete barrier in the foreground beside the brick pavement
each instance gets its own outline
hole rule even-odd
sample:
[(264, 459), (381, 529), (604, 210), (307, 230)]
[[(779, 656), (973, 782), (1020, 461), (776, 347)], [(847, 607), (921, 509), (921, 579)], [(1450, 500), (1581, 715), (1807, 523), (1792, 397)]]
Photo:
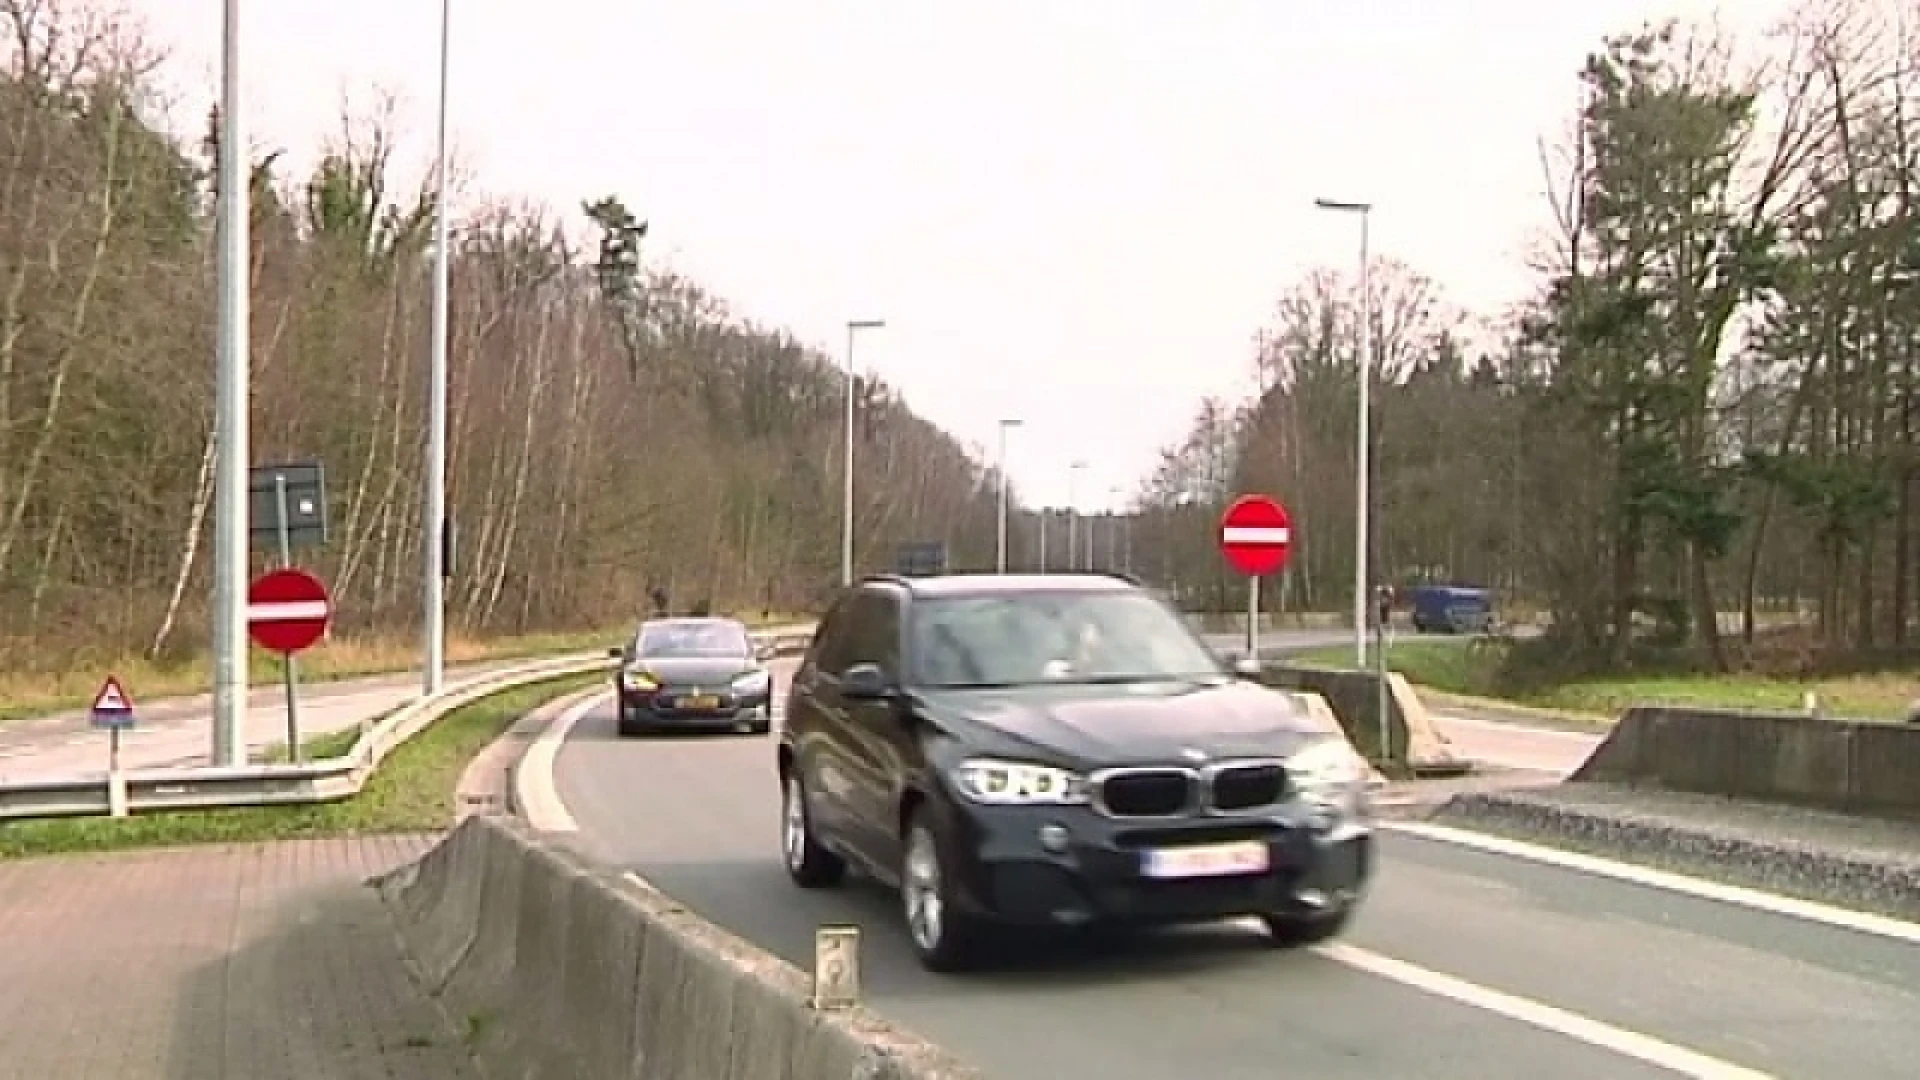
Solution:
[(516, 1080), (979, 1080), (632, 878), (474, 815), (386, 874), (419, 978)]

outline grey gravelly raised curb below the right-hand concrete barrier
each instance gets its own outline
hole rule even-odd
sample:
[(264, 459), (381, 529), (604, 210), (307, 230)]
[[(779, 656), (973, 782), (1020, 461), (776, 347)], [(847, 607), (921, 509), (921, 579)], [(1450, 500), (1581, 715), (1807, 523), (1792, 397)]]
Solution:
[(1920, 920), (1920, 857), (1910, 863), (1732, 836), (1657, 811), (1599, 811), (1549, 792), (1465, 792), (1427, 817), (1645, 867)]

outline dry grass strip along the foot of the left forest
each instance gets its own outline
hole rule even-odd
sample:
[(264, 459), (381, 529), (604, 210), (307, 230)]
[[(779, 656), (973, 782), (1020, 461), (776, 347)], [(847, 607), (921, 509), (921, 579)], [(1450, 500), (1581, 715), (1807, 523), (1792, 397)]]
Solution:
[[(760, 615), (739, 617), (749, 626), (778, 626), (804, 623), (801, 615)], [(601, 630), (566, 630), (541, 634), (516, 634), (503, 638), (468, 638), (447, 634), (447, 663), (486, 663), (524, 659), (538, 655), (561, 655), (576, 651), (603, 650), (632, 634), (634, 626), (620, 625)], [(263, 650), (250, 650), (250, 682), (253, 686), (278, 686), (282, 678), (280, 657)], [(369, 675), (392, 675), (413, 671), (420, 663), (420, 642), (417, 636), (367, 636), (332, 638), (300, 653), (301, 682), (332, 682), (340, 678), (361, 678)], [(65, 709), (84, 709), (92, 700), (100, 680), (113, 673), (132, 694), (134, 701), (159, 698), (180, 698), (205, 694), (213, 684), (211, 663), (205, 655), (196, 655), (179, 663), (154, 663), (140, 655), (117, 657), (104, 663), (75, 663), (69, 667), (48, 667), (44, 671), (6, 671), (0, 673), (0, 726), (8, 721), (40, 717)]]

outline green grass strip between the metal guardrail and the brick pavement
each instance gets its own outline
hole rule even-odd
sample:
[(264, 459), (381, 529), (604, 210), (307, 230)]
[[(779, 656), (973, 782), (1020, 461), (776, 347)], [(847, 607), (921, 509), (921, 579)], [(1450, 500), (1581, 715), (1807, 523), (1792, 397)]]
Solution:
[[(461, 773), (480, 749), (541, 703), (603, 680), (605, 675), (599, 673), (570, 675), (461, 705), (390, 753), (351, 799), (288, 807), (161, 811), (117, 821), (104, 817), (13, 821), (0, 824), (0, 859), (440, 830), (453, 821), (453, 796)], [(351, 736), (346, 734), (307, 740), (307, 755), (340, 753), (342, 738), (351, 744)]]

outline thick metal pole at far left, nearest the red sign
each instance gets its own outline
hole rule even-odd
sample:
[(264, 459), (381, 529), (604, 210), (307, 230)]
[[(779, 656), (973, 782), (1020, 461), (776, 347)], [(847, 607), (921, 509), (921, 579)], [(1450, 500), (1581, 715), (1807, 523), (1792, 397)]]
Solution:
[(213, 763), (246, 765), (248, 571), (248, 208), (246, 123), (240, 117), (240, 0), (221, 29), (219, 346), (213, 404)]

